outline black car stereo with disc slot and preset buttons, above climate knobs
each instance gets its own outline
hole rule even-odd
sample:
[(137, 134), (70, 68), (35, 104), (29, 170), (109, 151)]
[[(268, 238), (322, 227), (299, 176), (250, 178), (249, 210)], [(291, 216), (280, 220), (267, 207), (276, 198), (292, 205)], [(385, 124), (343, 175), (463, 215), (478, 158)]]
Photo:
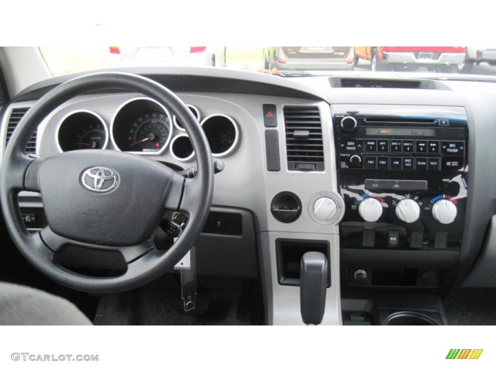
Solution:
[(451, 109), (449, 112), (444, 108), (438, 114), (431, 111), (427, 117), (426, 108), (395, 115), (390, 114), (398, 108), (370, 113), (370, 109), (354, 107), (336, 113), (339, 168), (465, 171), (465, 111), (459, 107)]

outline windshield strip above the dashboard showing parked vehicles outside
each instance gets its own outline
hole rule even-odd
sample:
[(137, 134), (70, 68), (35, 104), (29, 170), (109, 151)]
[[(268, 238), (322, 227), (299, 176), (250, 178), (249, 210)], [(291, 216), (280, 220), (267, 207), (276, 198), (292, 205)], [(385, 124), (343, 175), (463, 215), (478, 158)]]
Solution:
[(334, 71), (496, 75), (494, 47), (40, 47), (54, 76), (124, 66), (210, 66), (279, 76)]

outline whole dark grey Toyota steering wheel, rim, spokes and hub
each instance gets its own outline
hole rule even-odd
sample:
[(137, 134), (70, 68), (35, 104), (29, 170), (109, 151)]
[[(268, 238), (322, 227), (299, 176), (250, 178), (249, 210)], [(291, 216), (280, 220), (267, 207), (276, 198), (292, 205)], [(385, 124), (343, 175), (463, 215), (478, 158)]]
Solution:
[[(37, 125), (54, 109), (103, 88), (132, 90), (169, 108), (191, 140), (198, 163), (195, 178), (185, 180), (157, 161), (120, 151), (75, 150), (34, 160), (24, 153)], [(213, 175), (205, 134), (178, 96), (142, 76), (93, 73), (52, 89), (24, 115), (3, 157), (0, 201), (13, 242), (39, 271), (76, 290), (120, 292), (158, 278), (186, 254), (206, 222)], [(21, 190), (41, 193), (48, 226), (37, 233), (24, 226), (17, 200)], [(187, 224), (175, 243), (161, 252), (153, 235), (168, 211), (186, 215)], [(126, 270), (114, 277), (70, 271), (54, 260), (70, 246), (118, 251)]]

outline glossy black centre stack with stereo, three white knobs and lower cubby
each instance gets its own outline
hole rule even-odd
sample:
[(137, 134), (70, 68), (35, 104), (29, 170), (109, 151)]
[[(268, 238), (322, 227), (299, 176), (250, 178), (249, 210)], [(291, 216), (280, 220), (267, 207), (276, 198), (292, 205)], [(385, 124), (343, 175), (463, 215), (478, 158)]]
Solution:
[(343, 291), (438, 292), (463, 236), (465, 109), (332, 105)]

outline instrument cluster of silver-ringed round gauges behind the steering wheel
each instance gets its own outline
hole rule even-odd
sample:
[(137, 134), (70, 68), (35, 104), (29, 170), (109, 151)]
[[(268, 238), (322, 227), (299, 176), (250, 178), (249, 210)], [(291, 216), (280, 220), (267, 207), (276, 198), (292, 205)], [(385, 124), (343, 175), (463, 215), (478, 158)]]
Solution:
[[(186, 106), (202, 126), (214, 157), (228, 156), (236, 149), (240, 131), (232, 117), (225, 114), (202, 117), (196, 106)], [(70, 112), (58, 124), (56, 139), (60, 152), (113, 148), (141, 155), (161, 155), (169, 151), (181, 162), (194, 158), (191, 141), (180, 120), (148, 97), (125, 101), (110, 122), (95, 111)]]

